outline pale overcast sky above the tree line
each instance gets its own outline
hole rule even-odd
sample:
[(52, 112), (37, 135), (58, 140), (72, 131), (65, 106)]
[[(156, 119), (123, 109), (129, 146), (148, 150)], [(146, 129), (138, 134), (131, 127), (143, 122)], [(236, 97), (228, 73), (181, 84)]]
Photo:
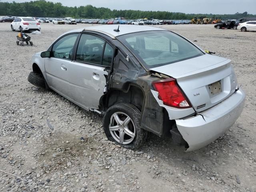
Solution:
[[(13, 0), (1, 0), (12, 2)], [(25, 2), (28, 0), (15, 0)], [(256, 14), (256, 0), (49, 0), (61, 2), (64, 6), (106, 7), (111, 10), (152, 10), (182, 13), (235, 14), (247, 11)]]

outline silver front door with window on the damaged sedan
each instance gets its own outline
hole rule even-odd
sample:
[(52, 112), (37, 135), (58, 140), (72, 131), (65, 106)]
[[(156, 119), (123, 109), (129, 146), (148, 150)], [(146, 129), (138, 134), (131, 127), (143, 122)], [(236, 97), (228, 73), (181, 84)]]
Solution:
[(68, 98), (72, 98), (69, 74), (77, 37), (78, 33), (73, 33), (58, 39), (52, 45), (50, 57), (44, 60), (48, 86)]

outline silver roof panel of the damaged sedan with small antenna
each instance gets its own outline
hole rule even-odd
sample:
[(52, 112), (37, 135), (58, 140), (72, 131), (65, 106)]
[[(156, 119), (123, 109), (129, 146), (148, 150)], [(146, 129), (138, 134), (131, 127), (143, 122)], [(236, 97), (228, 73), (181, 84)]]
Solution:
[(95, 32), (100, 32), (102, 34), (108, 35), (112, 39), (115, 39), (117, 36), (129, 34), (129, 33), (135, 33), (135, 32), (168, 31), (166, 29), (159, 28), (159, 27), (137, 26), (137, 25), (119, 25), (119, 32), (114, 31), (114, 29), (117, 29), (117, 28), (118, 28), (118, 25), (98, 25), (98, 26), (92, 26), (92, 27), (71, 30), (71, 31), (66, 32), (65, 34), (74, 33), (74, 32), (82, 32), (82, 31), (95, 31)]

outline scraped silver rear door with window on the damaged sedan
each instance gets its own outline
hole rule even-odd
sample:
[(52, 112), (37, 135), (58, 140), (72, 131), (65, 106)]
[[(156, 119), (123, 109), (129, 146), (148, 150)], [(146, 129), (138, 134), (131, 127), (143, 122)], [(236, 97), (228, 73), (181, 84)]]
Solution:
[(87, 109), (98, 109), (107, 91), (114, 48), (103, 38), (83, 33), (70, 69), (73, 98)]

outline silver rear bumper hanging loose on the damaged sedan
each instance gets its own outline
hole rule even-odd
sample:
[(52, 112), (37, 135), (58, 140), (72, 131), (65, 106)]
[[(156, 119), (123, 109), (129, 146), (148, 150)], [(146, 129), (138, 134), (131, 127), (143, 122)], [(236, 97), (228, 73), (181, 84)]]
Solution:
[(242, 113), (245, 93), (237, 90), (216, 106), (186, 119), (176, 121), (177, 128), (188, 143), (187, 151), (202, 148), (228, 130)]

